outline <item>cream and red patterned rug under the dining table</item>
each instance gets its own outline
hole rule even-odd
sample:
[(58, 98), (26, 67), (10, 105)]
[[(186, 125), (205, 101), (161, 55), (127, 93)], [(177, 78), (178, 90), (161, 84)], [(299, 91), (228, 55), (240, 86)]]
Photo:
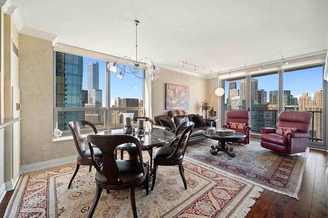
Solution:
[[(244, 217), (262, 188), (193, 161), (183, 161), (188, 189), (176, 166), (159, 166), (153, 191), (135, 190), (138, 217)], [(96, 191), (95, 169), (75, 164), (21, 176), (5, 217), (87, 217)], [(93, 217), (132, 217), (128, 190), (103, 191)]]

